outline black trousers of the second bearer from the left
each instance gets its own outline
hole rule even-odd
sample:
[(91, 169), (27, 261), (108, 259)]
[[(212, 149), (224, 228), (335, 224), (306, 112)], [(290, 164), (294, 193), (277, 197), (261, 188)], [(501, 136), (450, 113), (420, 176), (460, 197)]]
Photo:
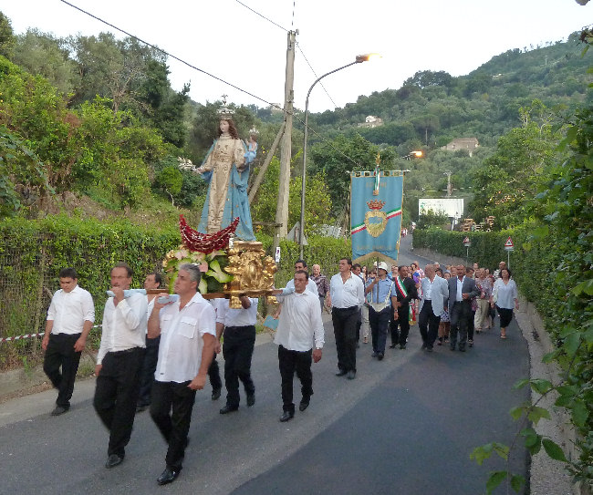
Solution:
[(125, 455), (131, 436), (140, 393), (140, 371), (144, 349), (107, 353), (97, 376), (93, 406), (109, 429), (108, 455)]

